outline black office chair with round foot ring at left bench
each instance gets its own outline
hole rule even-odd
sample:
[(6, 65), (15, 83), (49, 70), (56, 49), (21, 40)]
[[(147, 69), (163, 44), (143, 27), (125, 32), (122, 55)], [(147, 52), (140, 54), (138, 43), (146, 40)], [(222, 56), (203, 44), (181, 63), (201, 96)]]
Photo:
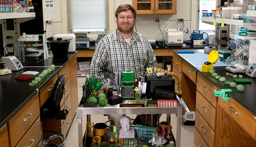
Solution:
[[(58, 77), (57, 81), (55, 82), (55, 85), (52, 90), (51, 96), (47, 99), (47, 101), (44, 103), (44, 105), (40, 108), (40, 117), (41, 119), (66, 119), (68, 110), (60, 110), (61, 109), (61, 99), (63, 97), (65, 90), (65, 76), (62, 74)], [(65, 94), (64, 94), (65, 97)], [(65, 98), (64, 98), (65, 99)], [(65, 105), (65, 101), (64, 101)], [(65, 106), (64, 106), (65, 107)], [(42, 125), (41, 125), (42, 126)], [(42, 128), (41, 128), (42, 130)], [(45, 147), (62, 147), (65, 143), (65, 136), (58, 132), (53, 131), (44, 131), (44, 132), (50, 132), (55, 133), (55, 135), (50, 136), (47, 140), (43, 139), (43, 132), (42, 132), (42, 145)], [(60, 138), (61, 144), (56, 145), (49, 143), (50, 140)]]

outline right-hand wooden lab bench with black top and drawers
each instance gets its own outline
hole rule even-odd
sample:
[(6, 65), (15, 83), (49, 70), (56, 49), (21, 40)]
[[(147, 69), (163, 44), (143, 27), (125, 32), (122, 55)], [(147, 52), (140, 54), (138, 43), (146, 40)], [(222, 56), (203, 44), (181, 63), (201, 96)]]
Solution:
[[(191, 51), (191, 50), (190, 50)], [(195, 111), (195, 145), (208, 147), (256, 147), (256, 79), (238, 91), (216, 80), (210, 73), (201, 72), (208, 61), (202, 50), (195, 54), (173, 52), (173, 72), (180, 75), (182, 98), (191, 111)], [(225, 63), (218, 61), (213, 68), (218, 75), (226, 76)], [(177, 87), (177, 83), (175, 84)], [(224, 101), (214, 90), (231, 89), (230, 99)]]

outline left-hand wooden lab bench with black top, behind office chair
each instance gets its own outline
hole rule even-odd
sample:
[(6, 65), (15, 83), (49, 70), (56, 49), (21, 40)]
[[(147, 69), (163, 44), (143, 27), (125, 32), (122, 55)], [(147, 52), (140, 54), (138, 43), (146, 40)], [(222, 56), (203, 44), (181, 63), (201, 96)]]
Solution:
[[(11, 74), (0, 76), (0, 140), (4, 140), (0, 141), (1, 147), (29, 146), (31, 144), (33, 146), (39, 144), (40, 146), (41, 122), (43, 130), (52, 130), (62, 134), (67, 133), (78, 107), (77, 53), (77, 51), (68, 53), (67, 58), (61, 60), (49, 57), (44, 60), (43, 65), (24, 66), (19, 71), (12, 71)], [(35, 87), (30, 87), (29, 83), (38, 74), (35, 76), (26, 75), (32, 77), (32, 80), (15, 80), (15, 77), (22, 76), (25, 71), (38, 71), (41, 73), (52, 64), (55, 65), (54, 71), (48, 73)], [(65, 124), (63, 120), (57, 119), (40, 120), (40, 107), (49, 98), (55, 81), (62, 74), (65, 75), (66, 86), (65, 108), (69, 111)], [(61, 100), (62, 109), (64, 108), (63, 104), (64, 99)], [(52, 129), (47, 126), (54, 126), (55, 128)], [(45, 136), (49, 136), (49, 134), (45, 134)]]

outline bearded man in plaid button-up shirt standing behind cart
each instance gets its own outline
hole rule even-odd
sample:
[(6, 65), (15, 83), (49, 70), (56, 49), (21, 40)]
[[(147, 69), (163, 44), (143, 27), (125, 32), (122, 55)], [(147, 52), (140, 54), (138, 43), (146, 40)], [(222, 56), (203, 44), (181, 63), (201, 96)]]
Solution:
[(145, 76), (146, 68), (155, 68), (157, 60), (148, 39), (133, 31), (136, 11), (128, 4), (116, 9), (117, 29), (100, 40), (90, 64), (90, 75), (116, 86), (115, 73), (134, 71), (135, 77)]

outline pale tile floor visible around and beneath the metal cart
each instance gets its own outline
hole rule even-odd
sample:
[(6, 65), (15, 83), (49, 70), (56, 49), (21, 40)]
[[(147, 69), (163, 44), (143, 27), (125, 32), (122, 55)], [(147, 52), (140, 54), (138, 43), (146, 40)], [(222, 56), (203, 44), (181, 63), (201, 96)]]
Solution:
[[(82, 97), (82, 83), (84, 83), (85, 78), (84, 77), (78, 77), (78, 96), (79, 96), (79, 102)], [(128, 115), (131, 118), (135, 118), (136, 115)], [(69, 133), (66, 138), (65, 147), (78, 147), (78, 125), (76, 122), (76, 117), (73, 120), (72, 125), (70, 126)], [(92, 122), (106, 122), (108, 120), (107, 116), (103, 115), (94, 115), (91, 116)], [(160, 118), (160, 122), (166, 120), (166, 115), (162, 115)], [(86, 123), (86, 116), (83, 116), (83, 126), (85, 126)], [(174, 136), (176, 136), (176, 124), (177, 124), (177, 117), (175, 114), (171, 115), (171, 125), (173, 127), (172, 131)], [(85, 132), (85, 127), (83, 127), (83, 133)], [(195, 125), (181, 125), (181, 141), (180, 141), (180, 147), (195, 147), (194, 144), (194, 132), (195, 132)]]

